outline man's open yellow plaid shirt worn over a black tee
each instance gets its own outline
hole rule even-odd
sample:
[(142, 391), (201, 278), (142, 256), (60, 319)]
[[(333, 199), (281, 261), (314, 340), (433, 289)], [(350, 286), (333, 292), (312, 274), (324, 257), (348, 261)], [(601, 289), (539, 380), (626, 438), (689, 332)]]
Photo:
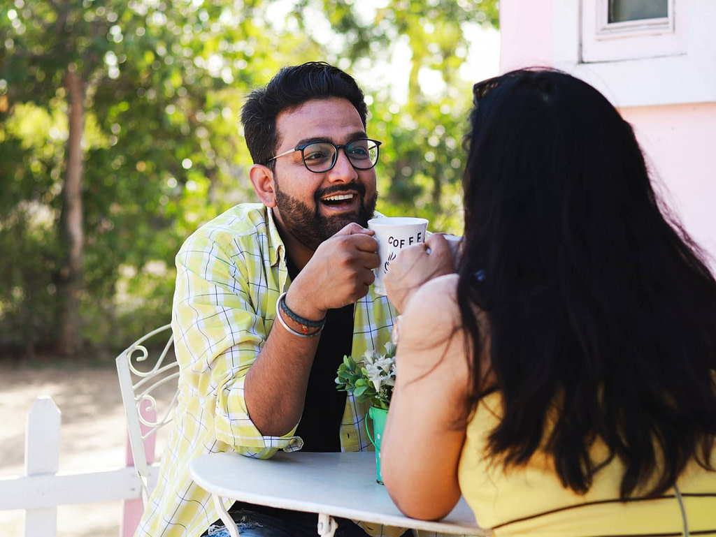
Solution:
[[(246, 411), (243, 383), (276, 318), (276, 300), (289, 285), (286, 251), (260, 204), (237, 205), (197, 230), (177, 257), (172, 328), (180, 365), (178, 409), (158, 485), (136, 536), (199, 536), (218, 519), (211, 497), (189, 476), (204, 453), (236, 450), (270, 458), (301, 449), (296, 428), (263, 436)], [(352, 355), (382, 350), (396, 312), (372, 292), (356, 303)], [(364, 428), (367, 403), (349, 395), (340, 428), (344, 451), (372, 450)], [(226, 507), (231, 504), (227, 502)], [(400, 535), (387, 526), (373, 536)]]

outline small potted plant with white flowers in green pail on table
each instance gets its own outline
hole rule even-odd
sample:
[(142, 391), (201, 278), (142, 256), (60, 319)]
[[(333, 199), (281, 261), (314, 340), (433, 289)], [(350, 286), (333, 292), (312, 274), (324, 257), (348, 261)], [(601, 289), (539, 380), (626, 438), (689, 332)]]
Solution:
[(375, 446), (377, 481), (382, 484), (380, 441), (395, 386), (395, 344), (386, 343), (385, 352), (382, 354), (367, 350), (359, 361), (351, 356), (344, 356), (343, 363), (338, 368), (336, 384), (338, 390), (352, 393), (358, 402), (370, 401), (368, 416), (373, 421), (374, 438), (371, 438), (368, 430), (367, 418), (366, 430), (368, 438)]

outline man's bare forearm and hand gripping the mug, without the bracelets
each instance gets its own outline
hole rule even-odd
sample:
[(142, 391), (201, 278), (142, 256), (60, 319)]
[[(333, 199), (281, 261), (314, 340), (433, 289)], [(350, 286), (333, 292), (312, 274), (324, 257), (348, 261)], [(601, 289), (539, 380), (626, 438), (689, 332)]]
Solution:
[[(286, 306), (305, 319), (321, 320), (329, 309), (367, 295), (379, 263), (372, 234), (350, 224), (323, 242), (291, 283)], [(299, 422), (319, 338), (300, 338), (274, 323), (244, 383), (248, 413), (263, 435), (286, 435)]]

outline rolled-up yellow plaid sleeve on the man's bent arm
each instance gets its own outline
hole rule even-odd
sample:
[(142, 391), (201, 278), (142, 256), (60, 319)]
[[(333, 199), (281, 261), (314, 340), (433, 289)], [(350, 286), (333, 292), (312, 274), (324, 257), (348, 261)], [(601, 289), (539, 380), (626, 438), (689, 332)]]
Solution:
[(263, 271), (258, 250), (229, 255), (220, 240), (190, 237), (176, 257), (172, 325), (185, 395), (199, 398), (199, 407), (208, 414), (197, 426), (213, 425), (216, 439), (238, 453), (269, 458), (279, 449), (300, 449), (302, 442), (294, 436), (296, 428), (281, 437), (261, 435), (246, 408), (246, 373), (275, 318), (275, 305), (266, 293), (258, 305), (251, 300), (248, 282)]

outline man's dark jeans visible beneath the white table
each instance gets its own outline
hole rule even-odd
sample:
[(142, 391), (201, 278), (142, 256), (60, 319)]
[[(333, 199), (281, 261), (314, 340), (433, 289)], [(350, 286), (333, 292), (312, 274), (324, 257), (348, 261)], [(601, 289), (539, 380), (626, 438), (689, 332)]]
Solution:
[[(255, 509), (255, 510), (254, 510)], [(318, 535), (318, 515), (301, 511), (252, 506), (236, 503), (228, 510), (236, 521), (241, 537), (316, 537)], [(345, 518), (335, 518), (338, 523), (335, 537), (367, 537), (362, 528)], [(407, 533), (410, 536), (410, 532)], [(228, 530), (221, 521), (214, 523), (203, 536), (229, 537)]]

